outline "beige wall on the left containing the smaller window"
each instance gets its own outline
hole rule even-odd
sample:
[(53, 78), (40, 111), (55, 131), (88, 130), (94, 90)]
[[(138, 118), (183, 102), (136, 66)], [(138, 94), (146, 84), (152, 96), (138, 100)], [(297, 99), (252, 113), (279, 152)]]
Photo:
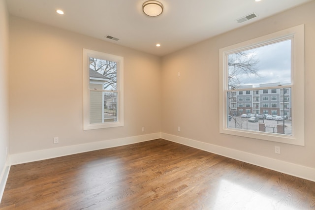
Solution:
[[(83, 48), (124, 57), (125, 126), (83, 131)], [(10, 153), (160, 132), (160, 77), (159, 57), (10, 16)]]

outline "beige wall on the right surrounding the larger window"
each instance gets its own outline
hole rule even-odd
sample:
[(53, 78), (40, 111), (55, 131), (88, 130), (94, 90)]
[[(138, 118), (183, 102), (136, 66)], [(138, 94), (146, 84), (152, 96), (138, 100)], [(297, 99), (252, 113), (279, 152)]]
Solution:
[[(312, 1), (163, 57), (162, 132), (315, 168), (314, 11)], [(300, 24), (305, 24), (305, 147), (220, 134), (219, 49)], [(274, 153), (276, 145), (281, 155)]]

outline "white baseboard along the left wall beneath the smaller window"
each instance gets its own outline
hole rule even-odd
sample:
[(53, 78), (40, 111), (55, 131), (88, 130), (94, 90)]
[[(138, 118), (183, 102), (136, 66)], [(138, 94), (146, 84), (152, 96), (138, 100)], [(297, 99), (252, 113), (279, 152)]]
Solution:
[(45, 160), (54, 157), (61, 157), (70, 154), (77, 154), (81, 152), (101, 150), (112, 147), (119, 147), (123, 145), (135, 144), (139, 142), (150, 141), (161, 138), (160, 133), (152, 133), (141, 136), (132, 136), (120, 139), (111, 139), (100, 142), (92, 142), (88, 144), (72, 145), (67, 147), (58, 147), (47, 150), (36, 150), (24, 153), (17, 153), (10, 155), (10, 165), (17, 165), (21, 163), (28, 163), (38, 160)]

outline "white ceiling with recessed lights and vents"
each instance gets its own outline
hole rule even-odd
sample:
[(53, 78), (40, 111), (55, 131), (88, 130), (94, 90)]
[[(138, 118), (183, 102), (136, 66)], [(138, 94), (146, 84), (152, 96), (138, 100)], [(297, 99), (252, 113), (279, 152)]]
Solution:
[[(6, 0), (11, 15), (30, 19), (157, 56), (312, 0), (159, 0), (164, 11), (149, 17), (146, 0)], [(62, 9), (64, 15), (56, 13)], [(256, 18), (235, 20), (251, 13)], [(119, 38), (114, 41), (106, 35)], [(155, 45), (160, 43), (160, 47)]]

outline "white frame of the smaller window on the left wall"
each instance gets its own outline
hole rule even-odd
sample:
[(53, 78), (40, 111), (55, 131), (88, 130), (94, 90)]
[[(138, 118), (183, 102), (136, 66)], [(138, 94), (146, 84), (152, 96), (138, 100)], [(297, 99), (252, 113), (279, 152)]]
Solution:
[[(89, 58), (117, 62), (117, 121), (90, 123), (90, 62)], [(83, 49), (83, 130), (124, 126), (124, 58)]]

